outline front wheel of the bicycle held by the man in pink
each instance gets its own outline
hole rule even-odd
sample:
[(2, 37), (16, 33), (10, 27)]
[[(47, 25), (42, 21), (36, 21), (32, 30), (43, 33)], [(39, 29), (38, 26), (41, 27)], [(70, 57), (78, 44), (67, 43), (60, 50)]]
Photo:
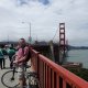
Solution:
[(8, 88), (18, 87), (19, 86), (18, 72), (14, 72), (14, 76), (13, 70), (4, 73), (1, 77), (1, 82)]

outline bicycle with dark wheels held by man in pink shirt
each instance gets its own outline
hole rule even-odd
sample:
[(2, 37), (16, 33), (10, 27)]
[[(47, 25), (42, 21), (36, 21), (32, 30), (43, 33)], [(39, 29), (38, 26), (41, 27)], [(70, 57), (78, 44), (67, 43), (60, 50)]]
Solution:
[[(1, 82), (3, 86), (8, 88), (18, 88), (19, 87), (19, 80), (18, 79), (18, 70), (15, 68), (16, 66), (13, 65), (13, 69), (6, 72), (1, 77)], [(30, 68), (31, 66), (29, 66)], [(26, 88), (41, 88), (37, 79), (36, 73), (26, 72), (25, 66), (25, 78), (26, 78)], [(6, 79), (7, 78), (7, 79)]]

